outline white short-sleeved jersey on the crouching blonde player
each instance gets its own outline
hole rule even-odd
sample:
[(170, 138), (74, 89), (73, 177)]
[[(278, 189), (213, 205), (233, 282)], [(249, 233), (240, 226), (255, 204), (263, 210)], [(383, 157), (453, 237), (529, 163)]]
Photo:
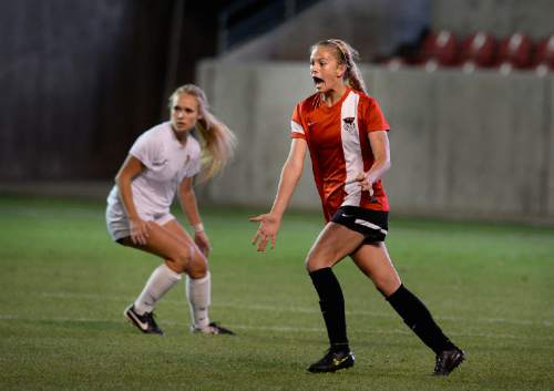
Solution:
[[(130, 154), (145, 166), (132, 182), (136, 212), (145, 220), (156, 220), (167, 215), (179, 183), (201, 171), (201, 146), (188, 135), (183, 145), (164, 122), (144, 132), (131, 147)], [(112, 216), (125, 215), (117, 186), (107, 196)], [(126, 217), (126, 216), (125, 216)]]

